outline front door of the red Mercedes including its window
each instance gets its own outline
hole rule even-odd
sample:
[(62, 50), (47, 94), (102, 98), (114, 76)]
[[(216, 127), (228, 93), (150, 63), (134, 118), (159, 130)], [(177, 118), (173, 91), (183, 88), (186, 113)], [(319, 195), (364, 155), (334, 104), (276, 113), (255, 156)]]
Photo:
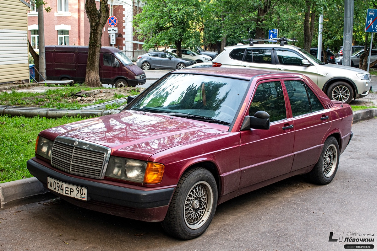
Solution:
[(287, 101), (280, 80), (257, 85), (249, 115), (270, 114), (270, 129), (241, 131), (239, 188), (290, 172), (293, 163), (293, 120), (287, 118)]

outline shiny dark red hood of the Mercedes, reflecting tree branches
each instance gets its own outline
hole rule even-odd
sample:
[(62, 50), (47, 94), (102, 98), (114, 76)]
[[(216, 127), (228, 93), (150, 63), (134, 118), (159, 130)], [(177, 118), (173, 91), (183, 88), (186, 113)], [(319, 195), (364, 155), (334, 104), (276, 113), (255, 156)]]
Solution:
[(127, 110), (50, 128), (40, 135), (51, 140), (80, 138), (111, 148), (112, 155), (148, 160), (157, 152), (225, 131), (224, 125)]

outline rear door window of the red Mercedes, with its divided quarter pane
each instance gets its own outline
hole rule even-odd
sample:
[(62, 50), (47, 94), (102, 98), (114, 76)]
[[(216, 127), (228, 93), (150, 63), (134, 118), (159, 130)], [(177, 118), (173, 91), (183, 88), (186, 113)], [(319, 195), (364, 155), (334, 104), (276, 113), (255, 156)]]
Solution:
[(284, 84), (287, 88), (293, 117), (323, 110), (317, 96), (303, 81), (288, 80), (284, 81)]

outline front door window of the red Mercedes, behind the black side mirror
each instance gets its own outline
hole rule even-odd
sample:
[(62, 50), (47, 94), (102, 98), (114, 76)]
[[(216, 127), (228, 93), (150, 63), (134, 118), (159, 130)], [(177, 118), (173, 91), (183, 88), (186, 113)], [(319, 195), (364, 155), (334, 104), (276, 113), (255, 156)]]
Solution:
[(265, 82), (258, 85), (249, 109), (249, 116), (257, 111), (270, 114), (270, 122), (287, 118), (283, 89), (280, 81)]

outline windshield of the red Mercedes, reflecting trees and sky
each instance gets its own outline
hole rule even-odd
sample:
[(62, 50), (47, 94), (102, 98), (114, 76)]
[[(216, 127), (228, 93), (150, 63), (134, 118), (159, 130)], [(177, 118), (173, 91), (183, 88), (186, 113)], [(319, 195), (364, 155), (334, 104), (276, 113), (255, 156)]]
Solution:
[[(248, 87), (245, 80), (194, 74), (170, 74), (147, 89), (127, 110), (177, 113), (180, 117), (230, 125)], [(183, 116), (182, 116), (183, 115)], [(196, 117), (194, 117), (196, 116)], [(207, 121), (207, 120), (205, 120)]]

